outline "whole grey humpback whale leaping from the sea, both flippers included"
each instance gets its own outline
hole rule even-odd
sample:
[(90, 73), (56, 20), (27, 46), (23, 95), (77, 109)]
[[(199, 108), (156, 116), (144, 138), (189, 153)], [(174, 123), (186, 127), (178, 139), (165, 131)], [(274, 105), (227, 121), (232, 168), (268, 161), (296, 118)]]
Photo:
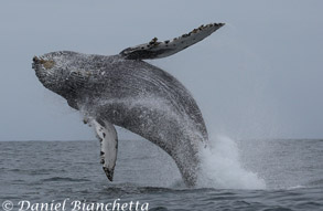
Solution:
[(142, 60), (175, 54), (223, 25), (201, 25), (164, 42), (154, 38), (110, 56), (52, 52), (34, 56), (32, 66), (46, 88), (67, 99), (95, 128), (101, 146), (100, 162), (110, 181), (117, 160), (117, 125), (166, 151), (192, 187), (200, 168), (198, 148), (208, 139), (201, 110), (175, 77)]

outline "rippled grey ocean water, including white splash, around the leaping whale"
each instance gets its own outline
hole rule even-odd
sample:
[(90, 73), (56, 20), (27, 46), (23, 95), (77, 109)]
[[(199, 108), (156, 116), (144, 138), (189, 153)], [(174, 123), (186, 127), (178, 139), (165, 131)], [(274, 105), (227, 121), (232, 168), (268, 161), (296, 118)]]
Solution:
[(147, 140), (119, 140), (114, 182), (98, 140), (1, 141), (0, 210), (323, 210), (323, 140), (217, 137), (211, 148), (187, 189)]

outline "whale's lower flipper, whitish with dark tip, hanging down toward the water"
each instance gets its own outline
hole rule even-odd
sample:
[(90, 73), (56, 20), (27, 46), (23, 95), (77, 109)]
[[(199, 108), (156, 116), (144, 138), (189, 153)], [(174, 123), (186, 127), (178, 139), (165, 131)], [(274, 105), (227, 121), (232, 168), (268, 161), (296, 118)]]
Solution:
[(93, 120), (91, 125), (95, 127), (97, 137), (100, 140), (100, 162), (104, 165), (106, 176), (112, 181), (118, 151), (116, 128), (111, 123), (100, 119)]

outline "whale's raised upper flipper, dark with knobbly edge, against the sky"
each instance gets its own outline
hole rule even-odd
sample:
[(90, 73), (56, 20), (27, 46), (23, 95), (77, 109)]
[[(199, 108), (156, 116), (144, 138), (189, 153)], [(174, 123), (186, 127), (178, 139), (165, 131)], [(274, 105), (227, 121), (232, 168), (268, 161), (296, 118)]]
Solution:
[(211, 23), (201, 25), (187, 34), (158, 42), (158, 39), (152, 39), (149, 43), (140, 44), (133, 48), (125, 49), (120, 52), (128, 60), (152, 60), (173, 55), (211, 35), (213, 32), (223, 27), (224, 23)]

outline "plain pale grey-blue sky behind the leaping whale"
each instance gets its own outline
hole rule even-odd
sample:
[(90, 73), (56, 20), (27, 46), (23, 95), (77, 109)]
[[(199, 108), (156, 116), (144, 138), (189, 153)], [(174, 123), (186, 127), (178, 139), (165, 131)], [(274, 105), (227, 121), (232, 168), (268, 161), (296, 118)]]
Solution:
[(226, 25), (149, 61), (191, 91), (211, 134), (323, 138), (322, 9), (320, 0), (1, 1), (0, 140), (95, 139), (80, 115), (37, 81), (33, 55), (117, 54), (211, 22)]

